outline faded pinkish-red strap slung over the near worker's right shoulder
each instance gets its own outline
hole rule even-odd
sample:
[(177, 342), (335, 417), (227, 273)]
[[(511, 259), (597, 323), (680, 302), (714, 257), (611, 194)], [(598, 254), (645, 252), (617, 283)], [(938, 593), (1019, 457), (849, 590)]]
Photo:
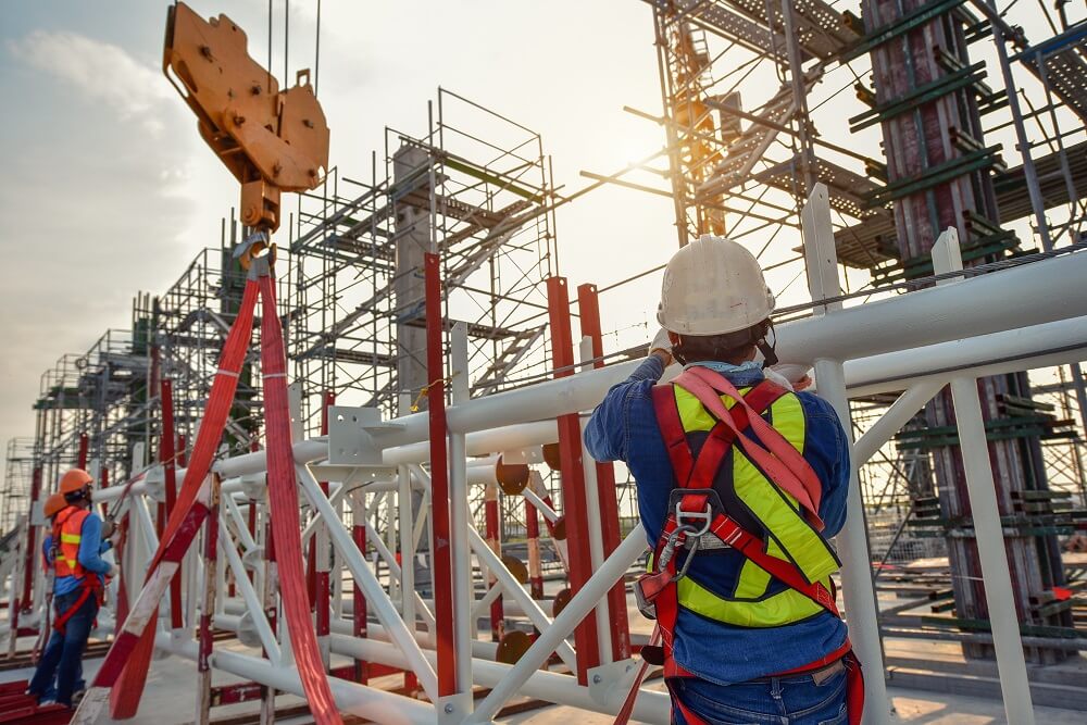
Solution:
[[(733, 398), (737, 405), (749, 408), (744, 396), (724, 375), (708, 367), (699, 365), (689, 367), (673, 384), (690, 391), (707, 410), (730, 427), (734, 426), (732, 416), (716, 393), (722, 392)], [(759, 440), (737, 435), (736, 440), (740, 448), (753, 463), (765, 472), (770, 480), (788, 491), (804, 508), (812, 525), (817, 530), (823, 530), (823, 521), (819, 516), (823, 486), (811, 464), (762, 416), (750, 415), (749, 421), (751, 429)], [(763, 448), (763, 445), (766, 448)]]

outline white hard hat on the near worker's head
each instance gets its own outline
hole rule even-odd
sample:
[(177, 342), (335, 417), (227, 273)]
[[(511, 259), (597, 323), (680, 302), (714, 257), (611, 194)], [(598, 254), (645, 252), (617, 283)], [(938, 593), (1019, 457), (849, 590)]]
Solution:
[(774, 295), (754, 255), (707, 234), (669, 260), (657, 321), (677, 335), (724, 335), (759, 324), (773, 310)]

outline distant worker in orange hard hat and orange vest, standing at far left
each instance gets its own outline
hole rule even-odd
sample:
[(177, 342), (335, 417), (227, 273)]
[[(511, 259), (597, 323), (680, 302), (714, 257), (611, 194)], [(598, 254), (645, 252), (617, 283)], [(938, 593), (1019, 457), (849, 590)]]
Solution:
[(72, 707), (83, 672), (83, 651), (102, 604), (104, 579), (117, 574), (116, 564), (101, 558), (109, 542), (102, 540), (102, 520), (91, 511), (92, 483), (82, 468), (72, 468), (61, 478), (60, 493), (66, 505), (53, 518), (48, 550), (55, 576), (53, 634), (28, 688), (39, 704), (52, 701), (55, 677), (55, 702)]

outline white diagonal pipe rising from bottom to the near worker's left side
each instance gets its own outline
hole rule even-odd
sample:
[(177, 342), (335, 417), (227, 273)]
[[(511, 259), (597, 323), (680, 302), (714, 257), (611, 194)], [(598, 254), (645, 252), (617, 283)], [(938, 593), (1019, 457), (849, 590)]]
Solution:
[(639, 523), (627, 534), (603, 565), (589, 577), (580, 591), (574, 595), (559, 613), (559, 616), (554, 617), (551, 626), (540, 632), (540, 636), (522, 655), (517, 664), (509, 670), (505, 677), (495, 684), (495, 689), (476, 707), (467, 722), (486, 723), (493, 718), (505, 701), (521, 690), (533, 672), (547, 662), (555, 647), (562, 643), (566, 636), (574, 630), (574, 627), (592, 611), (596, 603), (607, 596), (608, 590), (626, 574), (626, 570), (647, 548), (649, 548), (649, 543), (646, 539), (646, 529)]

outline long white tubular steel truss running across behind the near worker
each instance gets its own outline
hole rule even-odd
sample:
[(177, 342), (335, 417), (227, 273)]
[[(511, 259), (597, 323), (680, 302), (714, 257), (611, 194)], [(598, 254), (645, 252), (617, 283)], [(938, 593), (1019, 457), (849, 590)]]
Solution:
[[(817, 185), (813, 201), (804, 209), (805, 245), (812, 250), (809, 284), (815, 299), (836, 296), (833, 261), (815, 262), (833, 245), (826, 195), (826, 189)], [(961, 265), (953, 229), (937, 245), (935, 262), (938, 270), (953, 271)], [(779, 349), (785, 359), (814, 363), (820, 395), (830, 400), (846, 420), (849, 399), (867, 400), (904, 390), (857, 438), (851, 460), (858, 463), (869, 460), (932, 396), (949, 382), (952, 384), (975, 535), (980, 550), (994, 554), (982, 560), (982, 584), (994, 602), (992, 641), (1009, 721), (1016, 723), (1032, 722), (1033, 711), (974, 380), (977, 376), (1067, 364), (1087, 357), (1087, 320), (1069, 316), (1087, 304), (1087, 291), (1080, 284), (1085, 265), (1087, 253), (1077, 252), (962, 282), (951, 279), (934, 289), (878, 303), (850, 309), (830, 303), (816, 310), (815, 316), (784, 324), (779, 329)], [(965, 299), (977, 303), (963, 308)], [(1016, 313), (1009, 315), (998, 301), (1014, 305)], [(939, 310), (962, 312), (948, 316), (937, 314)], [(440, 323), (440, 318), (432, 314), (430, 322)], [(445, 327), (439, 324), (432, 330), (442, 332)], [(468, 364), (465, 327), (458, 324), (442, 334), (448, 337), (450, 353), (442, 355), (441, 362), (452, 372)], [(963, 338), (963, 329), (973, 335)], [(572, 348), (569, 338), (566, 343)], [(609, 365), (473, 399), (465, 396), (465, 386), (454, 387), (451, 403), (432, 397), (432, 407), (440, 402), (445, 408), (448, 426), (439, 429), (437, 437), (430, 430), (427, 413), (382, 421), (373, 409), (348, 407), (340, 409), (346, 414), (342, 420), (330, 422), (327, 438), (295, 443), (299, 485), (314, 512), (305, 523), (303, 538), (318, 537), (333, 550), (321, 564), (327, 566), (333, 593), (326, 613), (328, 630), (318, 634), (321, 646), (328, 652), (326, 666), (333, 668), (332, 691), (343, 711), (380, 722), (488, 722), (514, 693), (596, 712), (619, 709), (633, 661), (612, 657), (607, 627), (597, 629), (596, 648), (587, 642), (572, 647), (570, 637), (594, 620), (595, 610), (607, 605), (607, 592), (623, 580), (645, 552), (645, 532), (637, 526), (610, 552), (594, 552), (590, 541), (569, 539), (569, 555), (588, 558), (591, 574), (558, 614), (549, 613), (547, 598), (534, 593), (520, 567), (499, 557), (471, 518), (464, 516), (467, 497), (462, 493), (509, 484), (511, 479), (496, 454), (502, 454), (503, 460), (535, 461), (541, 446), (557, 441), (563, 448), (559, 467), (564, 477), (572, 475), (565, 462), (577, 457), (582, 457), (584, 472), (588, 472), (591, 461), (579, 450), (577, 437), (562, 442), (562, 425), (557, 421), (592, 408), (635, 364)], [(371, 434), (361, 430), (352, 415), (357, 421), (368, 421), (366, 429)], [(453, 587), (451, 611), (443, 614), (434, 601), (411, 586), (413, 570), (401, 563), (413, 558), (425, 529), (421, 525), (424, 514), (429, 514), (432, 521), (437, 514), (436, 508), (404, 504), (416, 493), (425, 497), (427, 491), (437, 490), (438, 471), (430, 461), (435, 450), (445, 452), (446, 439), (449, 467), (440, 473), (442, 477), (448, 475), (449, 482), (451, 555), (448, 571), (438, 575), (448, 576)], [(214, 508), (217, 553), (205, 550), (203, 557), (182, 559), (178, 576), (184, 591), (183, 624), (171, 630), (173, 613), (163, 602), (164, 611), (154, 624), (160, 628), (157, 643), (165, 652), (202, 659), (213, 668), (268, 688), (301, 693), (284, 630), (272, 615), (277, 611), (276, 588), (302, 583), (276, 582), (265, 558), (261, 534), (268, 521), (265, 465), (263, 452), (232, 457), (215, 465), (201, 500)], [(529, 464), (529, 468), (538, 466)], [(149, 475), (127, 493), (121, 487), (96, 492), (97, 502), (120, 501), (128, 513), (132, 528), (123, 571), (139, 572), (140, 562), (154, 549), (151, 510), (160, 490), (151, 483), (154, 478)], [(529, 484), (532, 476), (515, 478), (521, 483), (502, 485), (500, 496), (536, 503), (538, 495)], [(589, 505), (577, 513), (566, 509), (567, 527), (607, 528), (609, 516), (600, 507), (591, 505), (591, 500), (588, 497), (585, 503)], [(383, 509), (384, 516), (376, 515)], [(582, 521), (571, 521), (571, 516)], [(870, 673), (870, 716), (872, 722), (880, 723), (889, 722), (889, 713), (884, 679), (871, 676), (882, 671), (882, 658), (864, 526), (860, 487), (854, 478), (849, 518), (838, 537), (845, 564), (842, 590), (851, 637)], [(14, 582), (18, 574), (13, 572), (5, 579), (9, 592), (17, 589)], [(138, 589), (137, 582), (129, 584), (129, 592)], [(209, 587), (214, 588), (215, 596), (205, 599)], [(540, 633), (530, 646), (514, 650), (516, 655), (507, 660), (510, 663), (503, 663), (508, 658), (503, 652), (512, 649), (511, 636), (488, 642), (476, 630), (479, 617), (486, 616), (498, 596), (508, 603), (505, 620), (511, 630), (535, 627)], [(209, 613), (201, 610), (209, 604), (201, 602), (211, 601), (213, 616), (201, 620), (200, 614)], [(198, 622), (203, 624), (198, 626)], [(212, 623), (236, 632), (248, 650), (225, 650), (215, 647), (210, 637), (201, 637), (199, 642), (192, 638), (196, 629), (207, 629)], [(442, 641), (452, 641), (452, 649)], [(572, 674), (541, 670), (552, 652)], [(576, 673), (586, 668), (587, 658), (594, 658), (597, 664), (587, 668), (586, 678), (579, 682)], [(345, 662), (352, 666), (340, 668)], [(455, 684), (442, 691), (439, 673), (451, 663)], [(364, 684), (366, 674), (387, 673), (388, 667), (408, 672), (426, 699)], [(475, 685), (491, 691), (473, 705), (470, 693)], [(198, 696), (208, 700), (205, 693)], [(634, 716), (646, 722), (667, 722), (666, 696), (641, 690)]]

